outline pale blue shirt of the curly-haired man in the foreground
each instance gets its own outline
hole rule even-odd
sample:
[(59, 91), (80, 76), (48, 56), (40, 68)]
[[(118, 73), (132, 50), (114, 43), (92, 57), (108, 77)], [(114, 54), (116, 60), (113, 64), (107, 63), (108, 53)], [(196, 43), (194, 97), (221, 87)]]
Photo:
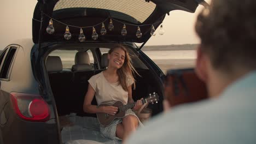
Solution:
[(127, 144), (256, 143), (256, 71), (219, 98), (178, 106), (133, 133)]

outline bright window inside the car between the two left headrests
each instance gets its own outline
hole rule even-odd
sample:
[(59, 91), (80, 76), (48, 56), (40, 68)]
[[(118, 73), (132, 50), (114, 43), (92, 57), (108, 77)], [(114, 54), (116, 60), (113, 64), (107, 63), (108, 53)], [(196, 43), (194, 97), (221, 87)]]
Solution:
[(75, 54), (77, 50), (55, 50), (49, 54), (49, 56), (58, 56), (61, 59), (63, 69), (72, 69), (75, 64)]

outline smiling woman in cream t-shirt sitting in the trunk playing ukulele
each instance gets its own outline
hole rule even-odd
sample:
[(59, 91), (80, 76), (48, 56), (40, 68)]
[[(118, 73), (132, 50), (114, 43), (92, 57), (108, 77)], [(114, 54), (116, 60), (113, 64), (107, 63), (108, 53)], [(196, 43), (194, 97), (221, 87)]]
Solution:
[[(91, 101), (96, 97), (97, 103), (104, 101), (119, 100), (124, 104), (132, 103), (132, 83), (134, 82), (133, 74), (135, 69), (130, 62), (129, 53), (122, 45), (117, 45), (108, 52), (108, 68), (101, 73), (92, 76), (88, 82), (88, 92), (84, 99), (84, 111), (88, 113), (108, 113), (115, 115), (118, 107), (114, 106), (96, 106), (91, 105)], [(136, 72), (137, 73), (137, 72)], [(138, 110), (142, 105), (142, 101), (136, 101), (133, 109)], [(135, 131), (141, 124), (135, 113), (129, 109), (123, 118), (115, 119), (107, 127), (101, 125), (102, 135), (109, 139), (123, 139)]]

